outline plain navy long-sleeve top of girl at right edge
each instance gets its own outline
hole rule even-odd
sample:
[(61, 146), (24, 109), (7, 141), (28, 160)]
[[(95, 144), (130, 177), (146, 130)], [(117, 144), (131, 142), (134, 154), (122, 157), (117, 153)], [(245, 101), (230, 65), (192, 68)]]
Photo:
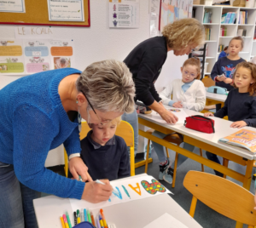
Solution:
[(230, 121), (244, 121), (247, 126), (256, 127), (256, 97), (249, 93), (239, 93), (234, 88), (228, 94), (224, 107), (214, 113), (214, 117), (229, 117)]

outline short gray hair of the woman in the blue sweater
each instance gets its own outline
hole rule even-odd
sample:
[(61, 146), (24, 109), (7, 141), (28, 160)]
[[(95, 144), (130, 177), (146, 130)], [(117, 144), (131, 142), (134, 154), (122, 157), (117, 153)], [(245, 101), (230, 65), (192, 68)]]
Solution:
[(99, 111), (134, 111), (135, 86), (123, 62), (104, 60), (87, 66), (77, 79), (76, 87)]

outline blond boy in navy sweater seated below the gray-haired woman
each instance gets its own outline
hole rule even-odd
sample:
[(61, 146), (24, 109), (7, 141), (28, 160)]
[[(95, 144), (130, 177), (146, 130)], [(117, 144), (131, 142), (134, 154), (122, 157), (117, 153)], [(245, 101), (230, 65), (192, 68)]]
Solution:
[[(115, 135), (121, 117), (100, 125), (88, 123), (91, 128), (81, 140), (81, 158), (88, 167), (92, 180), (117, 180), (131, 175), (130, 157), (123, 138)], [(72, 177), (72, 174), (68, 174)]]

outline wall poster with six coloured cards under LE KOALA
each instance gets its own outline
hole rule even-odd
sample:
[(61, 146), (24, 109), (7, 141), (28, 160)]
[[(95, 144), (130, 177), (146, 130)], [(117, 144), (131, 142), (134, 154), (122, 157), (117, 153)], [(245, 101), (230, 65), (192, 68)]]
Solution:
[(73, 40), (0, 40), (0, 76), (74, 67)]

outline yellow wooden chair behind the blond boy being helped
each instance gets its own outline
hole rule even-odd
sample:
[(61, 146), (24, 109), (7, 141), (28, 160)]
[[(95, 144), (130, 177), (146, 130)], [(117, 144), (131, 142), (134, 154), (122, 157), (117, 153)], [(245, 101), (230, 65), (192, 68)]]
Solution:
[[(80, 132), (80, 140), (83, 140), (84, 137), (87, 136), (90, 131), (90, 127), (86, 122), (82, 123), (82, 128)], [(134, 164), (134, 132), (130, 123), (125, 121), (121, 121), (118, 127), (116, 128), (116, 135), (122, 137), (125, 140), (127, 146), (130, 147), (130, 165), (131, 165), (131, 176), (135, 175), (135, 164)], [(67, 176), (68, 173), (68, 157), (67, 152), (64, 149), (64, 157), (65, 157), (65, 174)]]

